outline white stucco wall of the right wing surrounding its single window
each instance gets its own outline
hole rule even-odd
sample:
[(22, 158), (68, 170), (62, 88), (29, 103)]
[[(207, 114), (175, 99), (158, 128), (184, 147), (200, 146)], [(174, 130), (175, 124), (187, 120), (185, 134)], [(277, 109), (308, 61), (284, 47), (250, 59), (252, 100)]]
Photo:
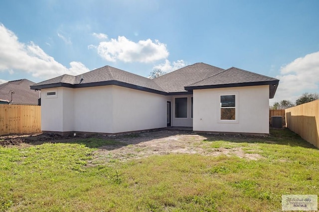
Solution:
[[(237, 120), (220, 121), (220, 95), (236, 94)], [(269, 133), (269, 85), (193, 91), (193, 130)]]

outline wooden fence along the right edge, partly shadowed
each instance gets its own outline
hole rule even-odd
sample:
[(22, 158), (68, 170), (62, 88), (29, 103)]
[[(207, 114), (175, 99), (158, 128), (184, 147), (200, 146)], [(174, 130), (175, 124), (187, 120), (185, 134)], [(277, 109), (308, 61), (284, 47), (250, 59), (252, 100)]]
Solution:
[(286, 125), (319, 148), (319, 100), (286, 109)]

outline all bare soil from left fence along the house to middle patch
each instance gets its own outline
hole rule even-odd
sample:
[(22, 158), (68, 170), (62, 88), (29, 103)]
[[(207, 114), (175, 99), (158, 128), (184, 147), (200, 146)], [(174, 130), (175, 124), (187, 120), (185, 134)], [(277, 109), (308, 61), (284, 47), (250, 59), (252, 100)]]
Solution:
[(76, 142), (85, 138), (102, 138), (105, 140), (118, 141), (119, 144), (102, 145), (93, 154), (92, 161), (89, 165), (97, 163), (112, 162), (112, 160), (129, 160), (133, 158), (143, 158), (150, 155), (163, 154), (202, 154), (202, 155), (237, 155), (241, 158), (257, 160), (262, 158), (256, 153), (247, 153), (242, 147), (233, 148), (211, 148), (210, 142), (205, 140), (236, 140), (247, 142), (255, 140), (255, 137), (247, 137), (242, 135), (225, 135), (225, 134), (196, 134), (192, 131), (178, 130), (160, 130), (148, 131), (127, 135), (77, 135), (60, 136), (58, 134), (33, 134), (33, 135), (11, 135), (0, 137), (0, 146), (18, 146), (27, 147), (31, 145), (39, 145), (46, 142)]

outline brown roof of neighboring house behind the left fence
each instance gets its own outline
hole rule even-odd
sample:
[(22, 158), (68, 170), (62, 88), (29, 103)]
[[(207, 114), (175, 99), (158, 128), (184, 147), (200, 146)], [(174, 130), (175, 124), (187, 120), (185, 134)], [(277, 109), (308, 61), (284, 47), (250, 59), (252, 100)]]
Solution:
[(12, 104), (37, 105), (39, 91), (30, 89), (30, 86), (34, 84), (27, 79), (12, 80), (0, 84), (0, 99), (8, 100)]

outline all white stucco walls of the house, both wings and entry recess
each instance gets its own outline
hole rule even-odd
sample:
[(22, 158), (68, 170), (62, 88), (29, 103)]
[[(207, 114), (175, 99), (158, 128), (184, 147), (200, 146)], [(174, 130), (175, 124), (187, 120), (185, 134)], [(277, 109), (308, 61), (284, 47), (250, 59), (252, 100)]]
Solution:
[[(56, 95), (46, 96), (51, 91)], [(235, 122), (220, 121), (221, 94), (236, 94)], [(187, 97), (187, 118), (175, 118), (175, 97)], [(42, 89), (42, 131), (120, 133), (164, 128), (167, 101), (171, 102), (171, 126), (193, 126), (194, 131), (269, 133), (268, 85), (202, 89), (178, 96), (116, 85)]]

